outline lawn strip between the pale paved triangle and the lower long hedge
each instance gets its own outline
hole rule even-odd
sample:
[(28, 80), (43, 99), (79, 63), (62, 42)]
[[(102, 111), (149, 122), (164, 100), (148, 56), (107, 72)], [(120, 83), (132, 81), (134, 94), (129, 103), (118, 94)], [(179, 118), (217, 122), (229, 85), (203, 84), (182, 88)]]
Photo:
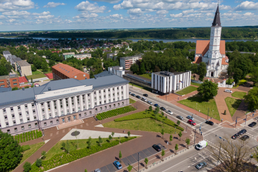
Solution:
[[(114, 138), (116, 140), (118, 138)], [(125, 139), (125, 137), (121, 137), (121, 140)], [(98, 140), (99, 139), (92, 139), (92, 146), (98, 145)], [(102, 138), (103, 143), (110, 142), (109, 138)], [(66, 140), (59, 141), (55, 146), (53, 146), (46, 154), (46, 160), (52, 158), (56, 154), (62, 153), (63, 148), (62, 148), (62, 142), (67, 142)], [(87, 148), (88, 147), (88, 139), (78, 139), (78, 144), (79, 144), (79, 149)], [(112, 142), (112, 141), (111, 141)], [(69, 140), (70, 143), (70, 151), (74, 151), (77, 149), (77, 140)]]

